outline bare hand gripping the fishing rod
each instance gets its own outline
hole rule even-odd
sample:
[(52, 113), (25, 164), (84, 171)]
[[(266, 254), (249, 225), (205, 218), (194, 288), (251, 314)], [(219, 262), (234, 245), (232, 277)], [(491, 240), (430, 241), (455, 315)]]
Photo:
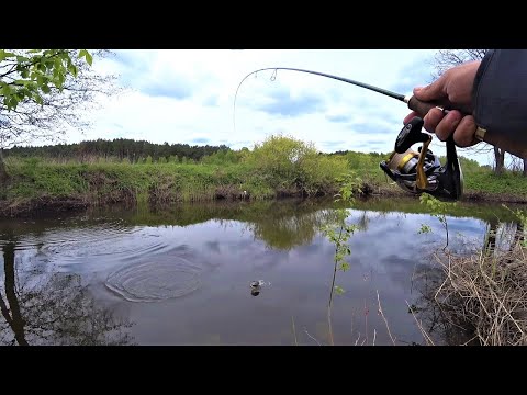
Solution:
[[(459, 147), (470, 147), (479, 143), (475, 138), (478, 126), (472, 115), (472, 87), (475, 74), (480, 67), (480, 60), (456, 66), (442, 74), (442, 76), (424, 88), (414, 88), (416, 99), (424, 102), (435, 102), (449, 110), (445, 115), (439, 109), (431, 109), (423, 119), (424, 127), (445, 142), (453, 134), (453, 140)], [(406, 124), (414, 116), (412, 112), (404, 119)]]

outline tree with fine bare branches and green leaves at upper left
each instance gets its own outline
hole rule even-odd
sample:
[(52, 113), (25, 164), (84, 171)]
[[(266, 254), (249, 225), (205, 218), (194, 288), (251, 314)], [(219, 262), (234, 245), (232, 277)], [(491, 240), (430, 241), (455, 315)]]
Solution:
[(68, 126), (83, 129), (82, 112), (99, 94), (115, 92), (115, 76), (92, 69), (86, 49), (0, 49), (0, 184), (8, 179), (3, 149), (16, 144), (55, 140)]

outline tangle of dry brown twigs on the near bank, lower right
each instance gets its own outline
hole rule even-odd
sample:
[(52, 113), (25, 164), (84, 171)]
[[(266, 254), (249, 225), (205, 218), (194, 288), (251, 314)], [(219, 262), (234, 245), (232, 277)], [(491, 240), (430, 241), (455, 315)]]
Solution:
[(508, 250), (485, 246), (469, 257), (439, 260), (444, 279), (426, 298), (439, 306), (445, 325), (470, 337), (459, 343), (527, 345), (526, 249), (516, 238), (509, 241)]

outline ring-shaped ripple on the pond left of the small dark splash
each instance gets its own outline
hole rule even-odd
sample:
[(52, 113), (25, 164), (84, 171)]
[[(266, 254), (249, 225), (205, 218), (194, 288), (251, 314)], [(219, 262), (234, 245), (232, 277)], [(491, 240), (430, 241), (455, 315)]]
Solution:
[(183, 258), (127, 266), (108, 276), (106, 286), (131, 302), (159, 302), (190, 294), (202, 269)]

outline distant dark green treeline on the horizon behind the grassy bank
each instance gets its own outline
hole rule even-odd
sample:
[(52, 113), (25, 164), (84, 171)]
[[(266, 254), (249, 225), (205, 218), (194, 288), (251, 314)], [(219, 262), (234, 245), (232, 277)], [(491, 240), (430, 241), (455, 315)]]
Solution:
[[(114, 138), (113, 140), (97, 139), (76, 144), (57, 144), (38, 147), (18, 147), (5, 149), (5, 156), (45, 157), (57, 159), (83, 160), (92, 157), (128, 159), (131, 162), (149, 160), (181, 161), (183, 158), (199, 161), (205, 156), (217, 151), (228, 151), (229, 147), (221, 146), (190, 146), (188, 144), (154, 144), (146, 140)], [(170, 160), (171, 159), (171, 160)]]

